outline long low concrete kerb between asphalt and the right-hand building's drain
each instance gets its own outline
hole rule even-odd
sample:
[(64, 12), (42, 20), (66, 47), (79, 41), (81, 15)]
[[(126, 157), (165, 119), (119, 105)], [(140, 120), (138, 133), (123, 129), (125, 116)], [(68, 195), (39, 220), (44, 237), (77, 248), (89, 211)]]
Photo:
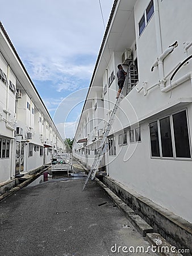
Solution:
[[(78, 160), (77, 160), (78, 162)], [(80, 166), (88, 173), (89, 170), (78, 162)], [(146, 237), (147, 241), (154, 246), (157, 246), (157, 240), (160, 240), (162, 244), (158, 247), (160, 249), (158, 250), (158, 254), (161, 256), (182, 256), (181, 253), (178, 253), (177, 250), (174, 250), (174, 253), (170, 251), (166, 251), (167, 248), (172, 248), (173, 246), (170, 245), (168, 241), (165, 240), (160, 234), (154, 233), (153, 228), (143, 220), (138, 214), (136, 214), (126, 203), (124, 203), (118, 196), (115, 195), (114, 192), (112, 192), (105, 184), (102, 183), (97, 177), (94, 178), (94, 181), (106, 192), (108, 197), (113, 201), (113, 203), (125, 214), (127, 219), (131, 222), (133, 226), (137, 229), (139, 233), (143, 237)], [(161, 249), (162, 247), (162, 249)]]

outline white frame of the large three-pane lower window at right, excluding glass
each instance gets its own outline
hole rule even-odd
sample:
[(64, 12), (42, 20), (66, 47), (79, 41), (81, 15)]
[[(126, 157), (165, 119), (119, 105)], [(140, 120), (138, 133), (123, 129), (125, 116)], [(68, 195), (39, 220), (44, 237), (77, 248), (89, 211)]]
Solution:
[[(187, 132), (188, 132), (188, 140), (189, 140), (190, 158), (186, 158), (186, 157), (182, 158), (181, 156), (180, 157), (176, 156), (176, 143), (175, 143), (175, 138), (174, 138), (173, 115), (181, 113), (181, 112), (184, 112), (184, 111), (186, 113), (186, 123), (187, 123)], [(162, 156), (160, 120), (164, 119), (166, 117), (169, 117), (169, 120), (170, 120), (170, 133), (171, 133), (171, 137), (172, 137), (173, 157), (172, 156)], [(154, 122), (157, 122), (158, 144), (159, 144), (160, 156), (152, 156), (150, 124), (154, 123)], [(160, 118), (156, 119), (155, 121), (150, 122), (148, 127), (149, 127), (149, 145), (150, 145), (150, 156), (151, 156), (151, 159), (186, 160), (186, 161), (191, 161), (192, 160), (190, 126), (189, 126), (189, 118), (188, 118), (187, 108), (180, 109), (177, 112), (173, 112), (171, 114), (165, 115), (164, 117), (160, 117)]]

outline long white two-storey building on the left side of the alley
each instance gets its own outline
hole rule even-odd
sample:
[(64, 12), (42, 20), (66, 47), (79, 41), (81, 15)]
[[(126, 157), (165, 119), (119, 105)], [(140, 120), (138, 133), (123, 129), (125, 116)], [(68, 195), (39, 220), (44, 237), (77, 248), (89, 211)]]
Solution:
[(65, 146), (0, 23), (0, 183), (51, 163)]

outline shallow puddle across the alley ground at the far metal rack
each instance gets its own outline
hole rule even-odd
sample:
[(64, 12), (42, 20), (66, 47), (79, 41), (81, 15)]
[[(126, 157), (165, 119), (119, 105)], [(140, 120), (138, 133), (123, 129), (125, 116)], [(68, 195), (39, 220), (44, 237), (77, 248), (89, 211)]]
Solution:
[(69, 180), (78, 180), (78, 179), (85, 179), (87, 177), (85, 172), (78, 172), (78, 173), (69, 173), (69, 176), (67, 174), (64, 174), (62, 172), (57, 172), (54, 174), (49, 174), (45, 172), (46, 174), (42, 174), (39, 177), (37, 177), (36, 180), (32, 181), (32, 183), (28, 184), (27, 187), (32, 187), (44, 182), (47, 182), (49, 180), (58, 180), (61, 179), (62, 181), (69, 181)]

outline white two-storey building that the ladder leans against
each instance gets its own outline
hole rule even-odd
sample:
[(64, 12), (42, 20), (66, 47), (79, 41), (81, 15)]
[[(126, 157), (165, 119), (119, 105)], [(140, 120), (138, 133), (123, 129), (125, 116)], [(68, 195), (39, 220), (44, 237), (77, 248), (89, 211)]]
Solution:
[(106, 182), (189, 222), (191, 9), (190, 0), (114, 1), (73, 144), (74, 156), (90, 167), (116, 101), (117, 66), (126, 61), (124, 97), (101, 164)]

